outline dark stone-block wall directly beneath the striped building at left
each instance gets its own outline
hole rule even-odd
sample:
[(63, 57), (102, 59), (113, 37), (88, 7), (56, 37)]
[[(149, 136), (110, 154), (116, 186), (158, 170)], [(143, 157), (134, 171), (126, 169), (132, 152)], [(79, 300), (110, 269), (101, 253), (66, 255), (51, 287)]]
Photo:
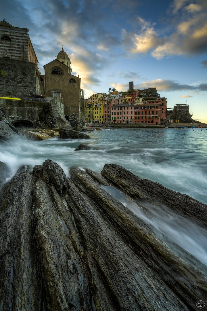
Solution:
[(0, 58), (0, 97), (24, 98), (24, 94), (36, 94), (35, 63)]

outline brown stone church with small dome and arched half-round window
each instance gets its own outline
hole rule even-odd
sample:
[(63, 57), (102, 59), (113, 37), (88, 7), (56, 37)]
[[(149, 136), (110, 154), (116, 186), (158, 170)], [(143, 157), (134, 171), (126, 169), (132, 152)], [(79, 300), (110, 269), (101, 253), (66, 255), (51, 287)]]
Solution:
[(70, 58), (62, 50), (56, 59), (44, 65), (45, 74), (40, 77), (41, 94), (63, 100), (65, 118), (72, 126), (84, 122), (84, 95), (81, 79), (71, 74)]

